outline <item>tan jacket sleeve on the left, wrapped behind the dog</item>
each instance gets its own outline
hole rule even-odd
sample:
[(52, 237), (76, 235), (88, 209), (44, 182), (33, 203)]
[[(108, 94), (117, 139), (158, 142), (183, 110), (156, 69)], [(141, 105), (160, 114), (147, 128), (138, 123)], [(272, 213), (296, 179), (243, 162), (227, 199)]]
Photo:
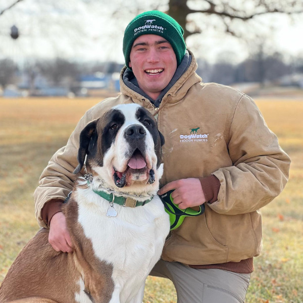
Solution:
[(73, 183), (77, 178), (73, 171), (78, 165), (80, 132), (91, 121), (89, 116), (89, 112), (87, 112), (80, 119), (66, 146), (55, 153), (40, 176), (39, 186), (34, 192), (34, 199), (36, 219), (42, 227), (46, 227), (41, 216), (43, 206), (52, 199), (65, 200), (73, 188)]

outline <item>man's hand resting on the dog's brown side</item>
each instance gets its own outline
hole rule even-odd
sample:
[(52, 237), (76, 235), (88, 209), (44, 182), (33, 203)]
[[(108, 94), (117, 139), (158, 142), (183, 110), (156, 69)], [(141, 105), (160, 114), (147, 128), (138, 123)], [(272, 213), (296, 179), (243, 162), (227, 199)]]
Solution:
[(62, 212), (55, 214), (49, 222), (48, 242), (56, 251), (72, 252), (72, 241)]

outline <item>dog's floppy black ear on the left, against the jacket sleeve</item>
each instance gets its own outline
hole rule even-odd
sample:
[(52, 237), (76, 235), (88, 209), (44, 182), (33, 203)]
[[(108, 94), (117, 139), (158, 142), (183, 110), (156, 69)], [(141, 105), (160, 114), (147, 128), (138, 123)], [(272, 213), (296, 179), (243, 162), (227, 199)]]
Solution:
[(80, 146), (78, 149), (78, 162), (79, 165), (74, 170), (74, 174), (78, 174), (82, 169), (85, 161), (85, 156), (88, 154), (88, 146), (92, 135), (96, 131), (97, 120), (88, 123), (80, 133)]

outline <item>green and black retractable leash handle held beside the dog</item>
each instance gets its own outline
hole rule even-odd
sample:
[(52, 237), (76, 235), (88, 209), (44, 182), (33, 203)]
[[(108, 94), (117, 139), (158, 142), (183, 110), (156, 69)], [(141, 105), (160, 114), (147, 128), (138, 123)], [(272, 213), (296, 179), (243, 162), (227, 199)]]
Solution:
[(185, 210), (179, 209), (178, 206), (173, 202), (173, 198), (171, 197), (172, 192), (173, 190), (169, 190), (168, 192), (160, 195), (165, 211), (169, 215), (170, 230), (178, 228), (183, 223), (185, 217), (196, 217), (204, 214), (204, 204), (199, 206), (198, 211), (194, 211), (191, 208), (187, 208)]

